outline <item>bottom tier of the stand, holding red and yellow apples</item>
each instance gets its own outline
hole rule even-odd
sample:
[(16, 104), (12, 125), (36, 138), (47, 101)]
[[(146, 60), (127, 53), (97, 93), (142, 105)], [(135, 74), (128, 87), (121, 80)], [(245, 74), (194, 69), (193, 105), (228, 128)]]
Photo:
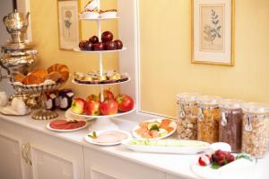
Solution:
[(100, 94), (90, 94), (86, 99), (75, 97), (67, 112), (87, 119), (117, 117), (134, 112), (134, 100), (129, 95), (117, 94), (115, 97), (110, 90), (104, 90), (103, 94), (103, 102), (100, 102)]

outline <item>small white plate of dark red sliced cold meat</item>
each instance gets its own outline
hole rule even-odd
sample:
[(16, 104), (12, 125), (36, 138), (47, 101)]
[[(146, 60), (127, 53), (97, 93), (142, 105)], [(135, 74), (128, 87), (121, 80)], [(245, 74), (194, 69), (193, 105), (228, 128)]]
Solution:
[(86, 121), (82, 120), (55, 120), (51, 121), (47, 124), (48, 130), (53, 131), (74, 131), (74, 130), (81, 130), (87, 126)]

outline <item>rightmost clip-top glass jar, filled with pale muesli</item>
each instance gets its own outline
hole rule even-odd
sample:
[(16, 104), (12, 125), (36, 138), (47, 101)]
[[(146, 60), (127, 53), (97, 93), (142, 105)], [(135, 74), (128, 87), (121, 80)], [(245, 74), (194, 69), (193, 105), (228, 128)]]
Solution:
[(268, 148), (266, 121), (269, 118), (269, 106), (245, 103), (243, 111), (242, 151), (253, 157), (265, 157)]

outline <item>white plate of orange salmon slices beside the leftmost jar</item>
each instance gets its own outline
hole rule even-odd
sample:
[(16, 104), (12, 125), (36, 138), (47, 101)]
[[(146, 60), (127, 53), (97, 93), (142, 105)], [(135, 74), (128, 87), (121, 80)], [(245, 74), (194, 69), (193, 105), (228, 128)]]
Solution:
[(171, 119), (156, 119), (140, 122), (134, 127), (133, 135), (137, 139), (164, 139), (177, 130), (177, 123)]

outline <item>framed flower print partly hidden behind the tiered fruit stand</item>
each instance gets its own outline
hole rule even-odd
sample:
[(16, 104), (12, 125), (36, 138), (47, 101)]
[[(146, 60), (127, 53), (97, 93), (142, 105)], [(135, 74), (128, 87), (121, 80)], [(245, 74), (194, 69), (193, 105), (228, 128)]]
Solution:
[(77, 0), (57, 0), (59, 49), (72, 50), (81, 39)]

